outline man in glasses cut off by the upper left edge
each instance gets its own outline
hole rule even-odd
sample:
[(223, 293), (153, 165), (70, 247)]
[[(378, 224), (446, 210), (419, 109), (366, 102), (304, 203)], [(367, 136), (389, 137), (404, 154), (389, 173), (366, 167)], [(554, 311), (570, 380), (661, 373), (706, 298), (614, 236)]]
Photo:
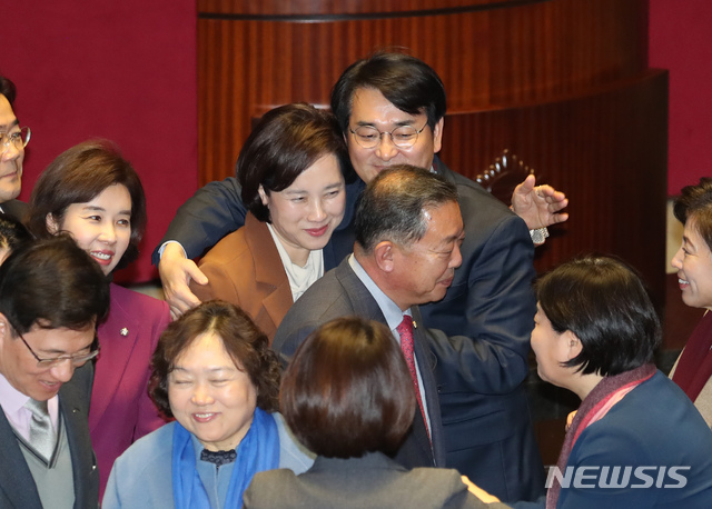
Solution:
[(16, 200), (22, 181), (24, 147), (30, 141), (30, 128), (20, 128), (12, 102), (14, 83), (0, 76), (0, 211), (21, 219), (27, 204)]

